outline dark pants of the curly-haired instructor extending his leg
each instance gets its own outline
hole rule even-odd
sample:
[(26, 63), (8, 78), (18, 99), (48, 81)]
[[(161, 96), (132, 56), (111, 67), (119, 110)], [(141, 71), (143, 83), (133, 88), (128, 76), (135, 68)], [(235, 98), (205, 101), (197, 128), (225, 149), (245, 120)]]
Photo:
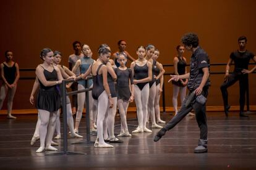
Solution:
[[(192, 91), (189, 92), (189, 94)], [(207, 97), (208, 95), (208, 87), (204, 87), (202, 91), (202, 95)], [(188, 95), (187, 95), (188, 97)], [(206, 105), (197, 103), (194, 100), (192, 100), (191, 105), (186, 107), (186, 99), (182, 102), (181, 109), (177, 112), (176, 116), (169, 121), (166, 126), (164, 126), (165, 129), (169, 131), (169, 129), (172, 129), (174, 126), (176, 126), (177, 123), (179, 123), (192, 109), (195, 111), (195, 118), (197, 119), (198, 127), (200, 128), (200, 139), (207, 140), (207, 116), (206, 116)]]

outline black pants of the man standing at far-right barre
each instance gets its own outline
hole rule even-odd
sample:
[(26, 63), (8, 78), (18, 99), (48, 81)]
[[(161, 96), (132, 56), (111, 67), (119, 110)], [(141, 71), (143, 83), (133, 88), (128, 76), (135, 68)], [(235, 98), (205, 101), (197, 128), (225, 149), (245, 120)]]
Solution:
[(221, 85), (221, 93), (223, 97), (223, 103), (224, 103), (224, 109), (228, 107), (228, 87), (232, 86), (234, 83), (239, 81), (239, 103), (240, 103), (240, 113), (244, 112), (244, 105), (245, 105), (245, 92), (247, 90), (248, 86), (248, 74), (242, 74), (234, 72), (231, 75), (228, 76), (228, 80), (224, 81), (224, 83)]

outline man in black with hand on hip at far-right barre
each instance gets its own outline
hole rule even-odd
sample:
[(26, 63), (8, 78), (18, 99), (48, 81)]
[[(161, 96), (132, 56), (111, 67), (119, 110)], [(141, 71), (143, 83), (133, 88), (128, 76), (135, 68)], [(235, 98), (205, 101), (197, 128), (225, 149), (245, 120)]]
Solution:
[[(230, 54), (228, 64), (226, 65), (226, 74), (224, 76), (224, 83), (221, 85), (221, 93), (224, 102), (224, 112), (226, 116), (228, 116), (228, 110), (230, 106), (228, 105), (228, 87), (232, 86), (239, 80), (240, 87), (240, 116), (244, 117), (244, 105), (245, 105), (245, 92), (248, 87), (248, 74), (252, 73), (256, 66), (252, 68), (252, 70), (248, 70), (248, 65), (250, 59), (253, 59), (256, 62), (256, 57), (252, 52), (247, 51), (245, 48), (247, 43), (247, 38), (245, 36), (241, 36), (238, 38), (239, 50), (234, 51)], [(229, 67), (231, 63), (234, 61), (234, 71), (231, 75), (229, 75)]]

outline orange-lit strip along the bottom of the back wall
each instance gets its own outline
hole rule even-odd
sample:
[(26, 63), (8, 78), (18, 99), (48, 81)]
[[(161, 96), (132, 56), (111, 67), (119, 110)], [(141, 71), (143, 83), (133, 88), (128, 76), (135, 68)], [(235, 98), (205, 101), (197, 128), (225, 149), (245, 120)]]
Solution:
[[(160, 110), (163, 111), (163, 107), (160, 107)], [(230, 111), (239, 111), (239, 106), (231, 106)], [(245, 108), (246, 110), (246, 108)], [(136, 107), (129, 107), (128, 111), (136, 111)], [(167, 112), (172, 112), (173, 107), (166, 107)], [(207, 106), (207, 111), (223, 111), (223, 106)], [(256, 111), (256, 105), (250, 105), (250, 111)], [(85, 112), (85, 109), (83, 110)], [(7, 110), (0, 110), (0, 115), (6, 115)], [(36, 109), (18, 109), (12, 110), (13, 115), (27, 115), (27, 114), (36, 114)]]

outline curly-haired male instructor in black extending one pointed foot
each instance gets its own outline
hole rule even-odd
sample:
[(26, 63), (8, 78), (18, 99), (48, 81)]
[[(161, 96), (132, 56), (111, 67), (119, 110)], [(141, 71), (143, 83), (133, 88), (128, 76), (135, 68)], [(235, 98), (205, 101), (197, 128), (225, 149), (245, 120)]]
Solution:
[(156, 134), (154, 141), (157, 142), (164, 136), (166, 131), (169, 131), (177, 123), (179, 123), (192, 109), (195, 111), (198, 127), (200, 128), (200, 139), (198, 146), (195, 148), (195, 153), (207, 152), (207, 116), (205, 102), (208, 95), (208, 87), (210, 86), (209, 68), (210, 60), (208, 54), (198, 46), (199, 40), (197, 34), (185, 34), (182, 43), (186, 49), (192, 52), (190, 61), (190, 72), (186, 75), (171, 75), (169, 81), (178, 81), (179, 79), (189, 79), (187, 88), (189, 95), (181, 105), (181, 109), (177, 114)]

